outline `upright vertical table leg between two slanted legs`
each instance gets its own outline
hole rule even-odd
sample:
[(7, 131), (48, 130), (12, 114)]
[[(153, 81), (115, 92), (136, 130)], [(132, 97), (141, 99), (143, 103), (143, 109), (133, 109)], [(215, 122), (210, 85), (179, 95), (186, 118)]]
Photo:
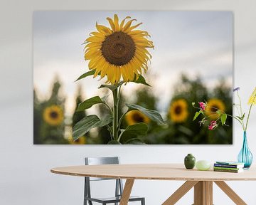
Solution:
[(213, 182), (200, 181), (195, 185), (194, 205), (213, 205)]

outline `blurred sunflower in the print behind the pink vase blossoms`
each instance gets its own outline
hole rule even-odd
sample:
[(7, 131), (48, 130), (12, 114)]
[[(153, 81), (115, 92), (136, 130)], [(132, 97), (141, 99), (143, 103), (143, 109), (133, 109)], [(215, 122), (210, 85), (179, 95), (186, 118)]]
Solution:
[(212, 120), (216, 120), (219, 115), (216, 113), (217, 110), (225, 112), (225, 104), (222, 100), (213, 98), (208, 100), (206, 104), (206, 115), (208, 115)]

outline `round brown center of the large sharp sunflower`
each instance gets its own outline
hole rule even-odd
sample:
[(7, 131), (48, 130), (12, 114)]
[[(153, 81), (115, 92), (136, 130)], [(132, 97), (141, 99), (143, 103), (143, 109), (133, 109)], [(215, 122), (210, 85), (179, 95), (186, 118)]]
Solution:
[(102, 42), (101, 51), (110, 64), (124, 65), (134, 57), (135, 43), (127, 33), (114, 32)]

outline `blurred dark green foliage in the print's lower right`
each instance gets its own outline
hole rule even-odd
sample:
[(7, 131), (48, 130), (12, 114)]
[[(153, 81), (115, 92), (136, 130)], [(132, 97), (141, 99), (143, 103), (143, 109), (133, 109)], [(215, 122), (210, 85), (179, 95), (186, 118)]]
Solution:
[[(232, 115), (231, 88), (225, 85), (223, 80), (220, 80), (215, 88), (207, 89), (201, 78), (190, 79), (186, 75), (181, 75), (181, 80), (170, 89), (174, 93), (170, 99), (170, 106), (175, 100), (186, 100), (188, 116), (184, 122), (174, 122), (171, 120), (169, 110), (166, 110), (167, 125), (161, 127), (154, 125), (149, 135), (144, 137), (144, 142), (147, 144), (232, 144), (233, 130), (230, 117), (225, 119), (225, 115), (223, 115), (223, 123), (227, 126), (208, 130), (208, 123), (204, 122), (208, 116), (203, 115), (201, 110), (195, 108), (198, 107), (198, 102), (218, 98), (225, 103), (225, 113)], [(221, 114), (220, 116), (222, 116)]]

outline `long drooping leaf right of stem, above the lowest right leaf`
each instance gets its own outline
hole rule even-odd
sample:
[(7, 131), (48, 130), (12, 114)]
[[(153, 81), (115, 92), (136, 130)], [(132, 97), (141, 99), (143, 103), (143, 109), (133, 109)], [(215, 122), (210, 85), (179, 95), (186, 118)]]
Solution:
[(156, 110), (149, 110), (149, 109), (146, 109), (145, 107), (135, 105), (135, 104), (125, 103), (125, 105), (129, 108), (128, 112), (131, 111), (131, 110), (139, 110), (144, 115), (149, 117), (151, 120), (157, 122), (159, 125), (164, 125), (165, 124), (163, 118), (161, 117), (159, 112), (157, 112)]

